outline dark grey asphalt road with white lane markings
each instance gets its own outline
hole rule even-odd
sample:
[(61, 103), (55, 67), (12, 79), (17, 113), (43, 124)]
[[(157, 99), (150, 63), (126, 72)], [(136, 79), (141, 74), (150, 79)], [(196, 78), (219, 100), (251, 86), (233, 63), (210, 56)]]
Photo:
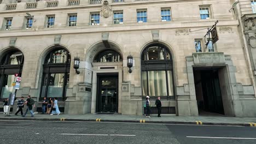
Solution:
[(256, 143), (256, 127), (0, 121), (0, 143)]

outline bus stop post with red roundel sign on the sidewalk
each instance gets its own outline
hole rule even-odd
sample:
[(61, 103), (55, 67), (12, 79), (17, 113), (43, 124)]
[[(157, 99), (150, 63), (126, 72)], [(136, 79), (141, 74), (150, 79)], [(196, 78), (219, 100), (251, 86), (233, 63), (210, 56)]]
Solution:
[(19, 74), (15, 74), (15, 78), (12, 83), (13, 91), (11, 92), (10, 97), (9, 97), (9, 103), (8, 103), (9, 107), (8, 107), (8, 112), (7, 112), (6, 116), (10, 116), (10, 106), (14, 105), (14, 100), (15, 100), (15, 96), (16, 96), (15, 90), (20, 89), (21, 77), (19, 77), (18, 75)]

